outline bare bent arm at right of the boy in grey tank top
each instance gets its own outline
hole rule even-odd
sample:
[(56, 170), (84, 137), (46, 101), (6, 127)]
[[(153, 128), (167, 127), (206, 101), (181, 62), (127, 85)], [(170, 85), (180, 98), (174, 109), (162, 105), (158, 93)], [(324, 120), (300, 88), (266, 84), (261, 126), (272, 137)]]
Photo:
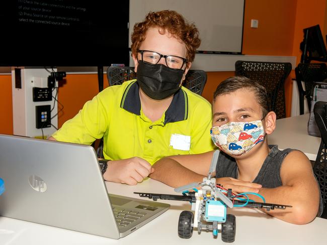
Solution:
[[(277, 188), (261, 188), (268, 203), (291, 205), (293, 207), (265, 211), (268, 214), (294, 224), (311, 222), (318, 212), (319, 187), (313, 175), (312, 166), (300, 151), (289, 153), (281, 167), (283, 185)], [(255, 201), (261, 198), (250, 195)]]

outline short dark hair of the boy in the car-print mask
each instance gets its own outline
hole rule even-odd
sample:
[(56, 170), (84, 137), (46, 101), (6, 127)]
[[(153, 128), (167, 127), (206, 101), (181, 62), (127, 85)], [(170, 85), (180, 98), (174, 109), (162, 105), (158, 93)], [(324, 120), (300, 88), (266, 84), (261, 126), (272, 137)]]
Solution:
[(270, 111), (266, 88), (258, 82), (244, 76), (233, 76), (222, 81), (213, 93), (213, 101), (215, 101), (216, 97), (219, 95), (231, 93), (241, 88), (249, 89), (255, 93), (257, 102), (262, 109), (262, 115), (265, 117)]

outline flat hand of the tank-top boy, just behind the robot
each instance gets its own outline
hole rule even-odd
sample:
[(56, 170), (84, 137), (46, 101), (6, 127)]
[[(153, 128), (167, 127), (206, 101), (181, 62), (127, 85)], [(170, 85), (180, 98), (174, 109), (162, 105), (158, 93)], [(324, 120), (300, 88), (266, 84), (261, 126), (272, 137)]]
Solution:
[(216, 184), (223, 186), (225, 189), (231, 189), (235, 194), (243, 192), (258, 193), (262, 187), (260, 184), (252, 183), (250, 181), (242, 181), (230, 177), (217, 178)]

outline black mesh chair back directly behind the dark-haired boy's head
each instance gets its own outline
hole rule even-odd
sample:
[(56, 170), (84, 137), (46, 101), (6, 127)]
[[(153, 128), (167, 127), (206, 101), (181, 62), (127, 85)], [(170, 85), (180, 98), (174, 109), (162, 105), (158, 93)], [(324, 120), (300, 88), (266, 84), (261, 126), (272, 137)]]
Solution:
[(278, 118), (286, 117), (284, 83), (292, 69), (291, 63), (242, 61), (235, 62), (236, 76), (245, 76), (263, 85), (270, 97), (270, 109)]

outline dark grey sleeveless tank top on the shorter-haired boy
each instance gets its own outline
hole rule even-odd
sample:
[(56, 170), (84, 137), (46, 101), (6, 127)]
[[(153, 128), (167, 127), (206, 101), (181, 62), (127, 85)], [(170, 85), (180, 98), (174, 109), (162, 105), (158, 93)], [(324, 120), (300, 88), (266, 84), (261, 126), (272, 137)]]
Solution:
[[(275, 188), (282, 185), (280, 169), (284, 158), (290, 152), (295, 150), (285, 149), (283, 151), (280, 151), (278, 150), (277, 145), (270, 145), (269, 148), (271, 150), (253, 182), (261, 184), (265, 188)], [(231, 177), (237, 179), (237, 165), (235, 159), (228, 156), (224, 152), (220, 152), (216, 166), (216, 178), (222, 177)], [(323, 205), (320, 193), (319, 210), (317, 216), (320, 216), (322, 214), (322, 210)]]

